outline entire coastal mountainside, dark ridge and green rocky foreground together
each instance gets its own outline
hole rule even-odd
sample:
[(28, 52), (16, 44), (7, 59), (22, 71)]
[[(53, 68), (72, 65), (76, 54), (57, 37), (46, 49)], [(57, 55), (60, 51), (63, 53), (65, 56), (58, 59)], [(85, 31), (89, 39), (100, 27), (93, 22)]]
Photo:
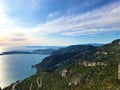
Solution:
[(55, 52), (36, 65), (36, 74), (3, 90), (120, 90), (120, 39)]

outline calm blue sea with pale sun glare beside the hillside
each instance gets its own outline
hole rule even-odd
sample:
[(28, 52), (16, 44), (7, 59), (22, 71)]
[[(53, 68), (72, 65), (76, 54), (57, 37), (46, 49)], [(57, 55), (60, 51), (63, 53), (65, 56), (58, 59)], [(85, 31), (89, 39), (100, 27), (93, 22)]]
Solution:
[[(20, 49), (20, 48), (19, 48)], [(1, 48), (0, 52), (16, 50)], [(32, 50), (28, 48), (22, 48), (20, 50)], [(37, 54), (16, 54), (16, 55), (3, 55), (0, 56), (0, 87), (6, 87), (17, 80), (23, 80), (30, 75), (33, 75), (36, 71), (31, 68), (47, 55)]]

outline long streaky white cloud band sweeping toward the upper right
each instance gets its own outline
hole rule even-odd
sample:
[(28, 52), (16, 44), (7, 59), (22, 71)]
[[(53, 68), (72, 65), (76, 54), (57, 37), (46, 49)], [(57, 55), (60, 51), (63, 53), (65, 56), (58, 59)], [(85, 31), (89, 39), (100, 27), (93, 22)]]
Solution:
[(42, 34), (59, 33), (69, 36), (120, 31), (120, 2), (79, 14), (68, 15), (40, 24), (34, 29)]

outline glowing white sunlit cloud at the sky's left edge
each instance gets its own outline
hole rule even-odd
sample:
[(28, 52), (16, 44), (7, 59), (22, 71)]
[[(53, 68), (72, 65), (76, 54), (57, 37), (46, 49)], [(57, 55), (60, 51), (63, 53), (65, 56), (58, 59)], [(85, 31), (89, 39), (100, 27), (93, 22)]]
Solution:
[[(30, 44), (30, 40), (33, 40), (32, 31), (12, 20), (7, 14), (8, 11), (9, 8), (3, 3), (3, 0), (0, 0), (0, 45)], [(19, 42), (15, 42), (15, 40)]]

